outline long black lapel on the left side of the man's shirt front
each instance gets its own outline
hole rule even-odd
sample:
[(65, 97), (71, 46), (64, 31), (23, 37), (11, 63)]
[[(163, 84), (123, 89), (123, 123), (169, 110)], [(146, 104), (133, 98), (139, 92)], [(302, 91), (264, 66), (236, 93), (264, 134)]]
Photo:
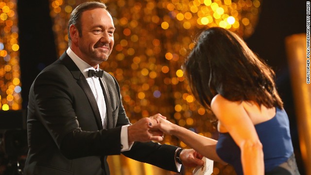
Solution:
[[(89, 101), (89, 104), (91, 105), (91, 108), (94, 112), (94, 117), (96, 120), (96, 124), (99, 130), (103, 129), (102, 124), (102, 118), (101, 114), (98, 109), (97, 102), (95, 100), (95, 97), (93, 95), (93, 92), (91, 88), (89, 87), (86, 78), (82, 74), (82, 72), (79, 70), (77, 65), (72, 61), (72, 59), (68, 56), (68, 54), (65, 52), (61, 57), (60, 60), (64, 63), (64, 65), (70, 70), (72, 73), (72, 76), (77, 79), (77, 84), (83, 89), (83, 91), (86, 93), (86, 97)], [(83, 107), (83, 106), (81, 106)]]

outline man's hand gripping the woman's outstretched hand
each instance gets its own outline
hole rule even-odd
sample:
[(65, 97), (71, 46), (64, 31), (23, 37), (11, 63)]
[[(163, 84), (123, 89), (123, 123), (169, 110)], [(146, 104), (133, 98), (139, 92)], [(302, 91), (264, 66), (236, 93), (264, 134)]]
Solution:
[[(152, 117), (162, 117), (161, 114), (156, 114)], [(156, 120), (152, 118), (140, 119), (137, 123), (127, 127), (128, 142), (140, 141), (146, 142), (151, 140), (162, 141), (163, 132), (152, 128), (156, 124)]]

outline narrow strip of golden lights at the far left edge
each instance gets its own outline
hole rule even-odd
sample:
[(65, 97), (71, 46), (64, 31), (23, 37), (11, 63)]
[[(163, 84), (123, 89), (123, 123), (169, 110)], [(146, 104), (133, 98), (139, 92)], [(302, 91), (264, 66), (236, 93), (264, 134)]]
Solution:
[(0, 110), (21, 109), (16, 0), (0, 0)]

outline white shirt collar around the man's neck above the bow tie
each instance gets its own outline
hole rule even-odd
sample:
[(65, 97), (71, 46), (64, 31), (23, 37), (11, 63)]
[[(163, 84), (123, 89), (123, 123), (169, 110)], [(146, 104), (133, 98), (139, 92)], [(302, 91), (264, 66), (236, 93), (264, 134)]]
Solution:
[(96, 65), (96, 69), (94, 69), (92, 66), (87, 64), (85, 61), (83, 61), (81, 58), (79, 58), (78, 55), (76, 55), (70, 47), (68, 47), (66, 53), (69, 55), (69, 57), (72, 59), (72, 61), (77, 65), (79, 70), (83, 73), (83, 75), (87, 78), (88, 77), (88, 70), (99, 70), (99, 65)]

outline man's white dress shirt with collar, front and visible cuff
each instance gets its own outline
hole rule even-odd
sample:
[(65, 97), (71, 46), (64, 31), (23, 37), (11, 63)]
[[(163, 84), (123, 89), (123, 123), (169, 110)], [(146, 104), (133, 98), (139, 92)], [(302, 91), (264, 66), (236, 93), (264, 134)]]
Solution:
[[(100, 80), (98, 77), (88, 77), (88, 70), (99, 70), (99, 65), (96, 65), (96, 69), (94, 69), (92, 66), (87, 64), (85, 61), (83, 61), (81, 58), (79, 58), (71, 49), (70, 47), (67, 49), (66, 53), (69, 55), (69, 57), (72, 59), (72, 61), (77, 65), (79, 70), (83, 73), (84, 77), (86, 78), (86, 81), (91, 88), (95, 100), (97, 102), (99, 112), (101, 114), (102, 118), (102, 124), (103, 128), (107, 128), (107, 109), (104, 99), (104, 93), (103, 89), (100, 84)], [(127, 134), (127, 127), (129, 125), (124, 125), (121, 128), (121, 144), (123, 145), (123, 148), (121, 151), (128, 151), (131, 149), (133, 143), (128, 144), (128, 134)]]

